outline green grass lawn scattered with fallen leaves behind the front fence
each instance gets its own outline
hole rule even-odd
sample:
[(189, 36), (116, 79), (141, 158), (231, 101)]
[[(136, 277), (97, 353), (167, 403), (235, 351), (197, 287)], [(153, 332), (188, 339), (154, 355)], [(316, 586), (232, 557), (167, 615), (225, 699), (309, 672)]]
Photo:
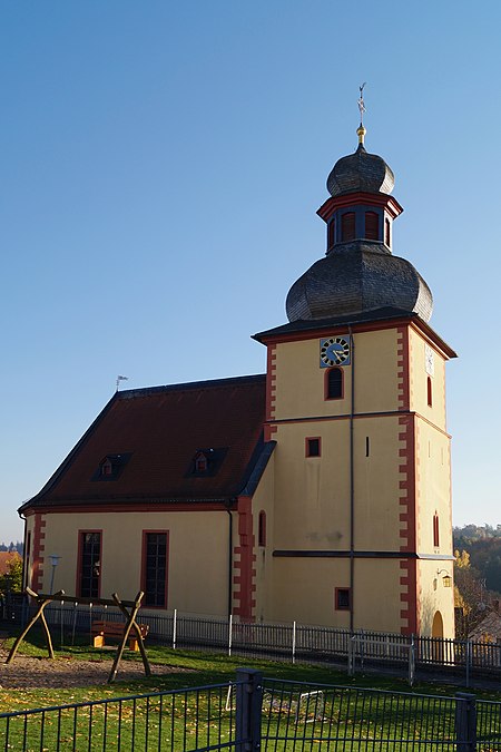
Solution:
[[(31, 636), (31, 635), (30, 635)], [(11, 641), (12, 642), (12, 641)], [(11, 644), (11, 643), (10, 643)], [(7, 644), (9, 646), (9, 643)], [(345, 672), (334, 671), (325, 666), (292, 665), (271, 661), (256, 661), (240, 657), (229, 658), (225, 655), (200, 654), (186, 651), (147, 645), (148, 657), (155, 665), (167, 664), (173, 671), (168, 674), (143, 677), (136, 681), (117, 681), (112, 685), (97, 684), (92, 686), (70, 688), (0, 688), (1, 711), (16, 712), (27, 709), (50, 707), (62, 704), (91, 703), (109, 701), (97, 706), (86, 705), (81, 709), (68, 709), (61, 712), (37, 714), (24, 719), (0, 722), (0, 746), (12, 750), (196, 750), (217, 744), (229, 739), (229, 729), (234, 726), (235, 699), (228, 705), (227, 686), (202, 693), (144, 696), (132, 700), (131, 695), (148, 695), (169, 690), (225, 684), (235, 678), (238, 667), (257, 668), (266, 677), (284, 682), (265, 693), (264, 720), (266, 733), (272, 740), (269, 750), (288, 752), (298, 749), (335, 749), (335, 742), (325, 742), (328, 736), (344, 738), (342, 749), (348, 750), (393, 750), (406, 749), (392, 740), (409, 738), (412, 750), (421, 752), (426, 748), (424, 739), (438, 736), (436, 723), (440, 720), (440, 734), (451, 740), (442, 750), (453, 749), (454, 714), (453, 703), (446, 697), (462, 687), (451, 685), (419, 684), (412, 690), (415, 694), (433, 694), (443, 697), (438, 712), (435, 702), (426, 703), (418, 697), (412, 700), (387, 695), (387, 701), (375, 697), (361, 700), (356, 687), (373, 687), (392, 692), (410, 692), (405, 681), (387, 676), (357, 674), (350, 680)], [(30, 654), (47, 658), (47, 652), (40, 635), (35, 634), (30, 642), (23, 643), (21, 654)], [(111, 665), (114, 653), (90, 648), (88, 645), (65, 647), (56, 652), (56, 661), (70, 664), (72, 660), (101, 660)], [(126, 661), (140, 662), (138, 654), (126, 651)], [(16, 658), (14, 658), (16, 663)], [(14, 665), (13, 663), (13, 665)], [(118, 680), (120, 673), (118, 674)], [(295, 712), (299, 705), (303, 690), (287, 685), (287, 682), (305, 684), (341, 685), (352, 687), (351, 692), (334, 691), (325, 687), (322, 694), (322, 706), (317, 701), (303, 706), (299, 722)], [(1, 685), (1, 667), (0, 667)], [(477, 692), (484, 700), (500, 701), (499, 693)], [(122, 697), (122, 701), (115, 699)], [(440, 701), (441, 702), (441, 701)], [(361, 705), (363, 704), (363, 706)], [(495, 726), (498, 733), (498, 726)], [(294, 743), (294, 736), (304, 738), (307, 742)], [(90, 739), (90, 742), (89, 742)], [(381, 739), (389, 741), (382, 746)], [(276, 741), (275, 741), (276, 740)], [(356, 740), (356, 741), (353, 741)], [(362, 741), (363, 740), (363, 741)], [(303, 746), (303, 744), (307, 746)], [(333, 746), (334, 744), (334, 746)], [(263, 746), (265, 750), (266, 746)], [(340, 748), (341, 749), (341, 748)], [(482, 750), (493, 746), (479, 746)]]

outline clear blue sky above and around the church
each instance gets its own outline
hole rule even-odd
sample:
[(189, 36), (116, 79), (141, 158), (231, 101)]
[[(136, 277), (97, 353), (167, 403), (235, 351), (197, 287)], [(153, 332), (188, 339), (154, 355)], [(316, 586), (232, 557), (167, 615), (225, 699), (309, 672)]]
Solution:
[(435, 299), (454, 523), (501, 523), (501, 3), (0, 0), (0, 541), (115, 390), (258, 373), (366, 147)]

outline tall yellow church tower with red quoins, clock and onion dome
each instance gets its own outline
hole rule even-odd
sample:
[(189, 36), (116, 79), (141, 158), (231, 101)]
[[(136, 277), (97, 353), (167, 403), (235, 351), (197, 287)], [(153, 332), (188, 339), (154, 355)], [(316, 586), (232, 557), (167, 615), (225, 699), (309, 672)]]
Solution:
[(265, 439), (276, 441), (256, 616), (453, 637), (455, 353), (428, 323), (429, 286), (393, 254), (403, 209), (365, 133), (327, 178), (325, 257), (291, 287), (288, 323), (255, 335), (268, 352)]

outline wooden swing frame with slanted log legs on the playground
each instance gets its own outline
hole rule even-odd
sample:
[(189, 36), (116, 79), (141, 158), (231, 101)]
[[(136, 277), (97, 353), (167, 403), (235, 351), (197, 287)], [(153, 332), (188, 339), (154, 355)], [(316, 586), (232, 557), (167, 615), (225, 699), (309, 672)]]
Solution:
[(81, 605), (89, 605), (89, 606), (118, 606), (118, 608), (121, 611), (126, 618), (126, 624), (124, 626), (124, 633), (121, 635), (121, 642), (117, 647), (117, 652), (115, 654), (115, 660), (114, 660), (114, 665), (111, 667), (111, 671), (108, 676), (108, 684), (111, 684), (111, 682), (115, 681), (117, 677), (118, 673), (118, 666), (121, 661), (121, 656), (124, 654), (125, 646), (127, 644), (127, 639), (129, 638), (130, 632), (134, 629), (134, 633), (136, 635), (137, 644), (141, 654), (143, 658), (143, 665), (145, 667), (145, 674), (146, 676), (151, 676), (151, 667), (149, 665), (148, 656), (146, 655), (146, 650), (145, 650), (145, 644), (143, 641), (143, 629), (141, 627), (137, 624), (136, 622), (136, 616), (137, 612), (139, 611), (139, 607), (141, 605), (143, 596), (145, 595), (143, 592), (139, 592), (135, 598), (135, 600), (120, 600), (118, 595), (114, 593), (111, 595), (111, 599), (109, 598), (76, 598), (70, 595), (66, 595), (65, 590), (59, 590), (58, 593), (55, 593), (53, 595), (48, 595), (47, 593), (35, 593), (30, 587), (27, 587), (24, 593), (29, 595), (31, 598), (37, 600), (38, 608), (37, 613), (35, 616), (30, 619), (28, 626), (24, 628), (24, 631), (17, 637), (14, 644), (12, 645), (10, 653), (7, 657), (6, 663), (11, 663), (16, 656), (16, 653), (18, 652), (18, 647), (21, 644), (21, 642), (24, 639), (26, 635), (28, 632), (31, 629), (31, 627), (40, 619), (43, 632), (46, 635), (46, 642), (47, 642), (47, 650), (49, 652), (49, 658), (53, 658), (53, 647), (52, 647), (52, 639), (50, 636), (50, 629), (49, 625), (47, 624), (46, 615), (43, 614), (43, 609), (46, 606), (49, 605), (49, 603), (52, 603), (53, 600), (57, 600), (59, 603), (73, 603), (73, 604), (81, 604)]

